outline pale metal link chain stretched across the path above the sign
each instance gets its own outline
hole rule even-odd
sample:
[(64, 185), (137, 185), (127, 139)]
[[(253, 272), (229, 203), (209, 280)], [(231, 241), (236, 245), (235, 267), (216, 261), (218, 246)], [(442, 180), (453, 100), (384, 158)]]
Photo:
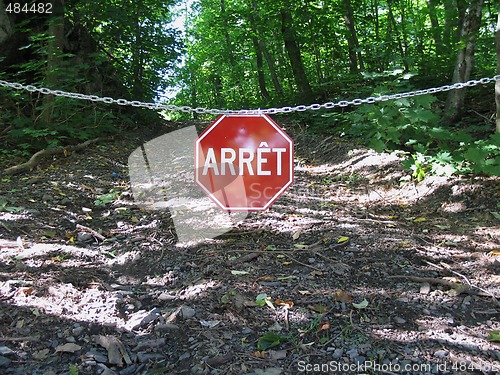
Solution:
[(52, 90), (46, 87), (36, 87), (33, 85), (23, 85), (22, 83), (11, 83), (7, 81), (0, 80), (0, 86), (10, 87), (16, 90), (26, 90), (29, 92), (39, 92), (44, 95), (55, 95), (64, 96), (66, 98), (90, 100), (92, 102), (101, 102), (106, 104), (118, 104), (118, 105), (129, 105), (132, 107), (141, 107), (154, 110), (166, 110), (166, 111), (179, 111), (179, 112), (194, 112), (194, 113), (206, 113), (211, 115), (260, 115), (260, 114), (276, 114), (276, 113), (290, 113), (290, 112), (304, 112), (304, 111), (316, 111), (319, 109), (332, 109), (335, 107), (348, 107), (350, 105), (361, 105), (361, 104), (373, 104), (377, 102), (385, 102), (388, 100), (396, 100), (401, 98), (411, 98), (414, 96), (434, 94), (437, 92), (444, 92), (450, 90), (461, 89), (464, 87), (473, 87), (478, 84), (486, 85), (491, 82), (500, 81), (500, 75), (496, 75), (492, 78), (481, 78), (479, 80), (473, 79), (467, 82), (458, 82), (452, 85), (444, 85), (440, 87), (434, 87), (424, 90), (415, 90), (404, 93), (380, 95), (380, 96), (370, 96), (364, 99), (353, 99), (353, 100), (340, 100), (337, 102), (326, 102), (323, 104), (310, 104), (310, 105), (297, 105), (293, 107), (280, 107), (280, 108), (265, 108), (265, 109), (241, 109), (241, 110), (224, 110), (217, 108), (193, 108), (190, 106), (177, 106), (173, 104), (157, 104), (157, 103), (147, 103), (137, 100), (127, 100), (127, 99), (113, 99), (109, 96), (97, 96), (97, 95), (86, 95), (79, 94), (61, 90)]

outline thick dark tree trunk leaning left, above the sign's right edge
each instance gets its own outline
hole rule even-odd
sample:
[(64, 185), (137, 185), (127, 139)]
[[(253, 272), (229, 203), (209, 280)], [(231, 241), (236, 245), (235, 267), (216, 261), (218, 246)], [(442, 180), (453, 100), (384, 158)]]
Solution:
[(285, 49), (292, 66), (293, 77), (303, 102), (310, 102), (312, 100), (312, 90), (307, 79), (304, 63), (302, 62), (302, 55), (300, 54), (300, 47), (297, 43), (297, 36), (293, 30), (292, 15), (289, 11), (290, 7), (286, 1), (283, 3), (281, 9), (281, 33), (283, 41), (285, 42)]

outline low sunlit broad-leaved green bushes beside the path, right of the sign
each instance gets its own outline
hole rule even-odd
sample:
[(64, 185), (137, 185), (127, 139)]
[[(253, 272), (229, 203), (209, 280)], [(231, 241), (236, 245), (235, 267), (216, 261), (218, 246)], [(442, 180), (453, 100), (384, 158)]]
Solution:
[[(387, 92), (378, 89), (374, 96)], [(475, 139), (471, 129), (445, 126), (431, 95), (363, 105), (336, 116), (344, 137), (381, 151), (403, 151), (404, 165), (421, 181), (427, 175), (500, 173), (500, 134)], [(336, 129), (337, 130), (337, 129)], [(466, 131), (469, 130), (469, 131)]]

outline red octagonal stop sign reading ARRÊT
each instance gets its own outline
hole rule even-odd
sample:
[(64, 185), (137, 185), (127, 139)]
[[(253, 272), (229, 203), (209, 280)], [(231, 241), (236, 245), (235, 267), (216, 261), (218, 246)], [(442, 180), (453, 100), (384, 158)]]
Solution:
[(265, 210), (293, 182), (293, 140), (267, 115), (221, 115), (196, 140), (195, 167), (222, 209)]

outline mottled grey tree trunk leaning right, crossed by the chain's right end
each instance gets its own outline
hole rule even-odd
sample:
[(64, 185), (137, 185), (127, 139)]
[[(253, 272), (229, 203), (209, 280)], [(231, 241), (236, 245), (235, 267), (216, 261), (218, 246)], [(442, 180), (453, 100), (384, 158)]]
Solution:
[[(470, 79), (474, 66), (474, 50), (481, 16), (483, 13), (484, 0), (471, 0), (465, 13), (462, 29), (460, 31), (461, 47), (458, 51), (455, 70), (453, 71), (453, 83), (465, 82)], [(444, 122), (452, 124), (457, 122), (462, 115), (465, 103), (465, 88), (451, 90), (446, 98), (444, 110)]]

